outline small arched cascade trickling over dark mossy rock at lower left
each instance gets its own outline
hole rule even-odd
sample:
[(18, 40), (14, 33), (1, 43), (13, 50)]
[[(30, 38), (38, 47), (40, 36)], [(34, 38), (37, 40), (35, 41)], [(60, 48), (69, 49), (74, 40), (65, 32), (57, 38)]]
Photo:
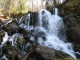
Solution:
[(16, 33), (12, 35), (12, 38), (9, 41), (12, 43), (12, 46), (14, 46), (22, 55), (25, 55), (27, 50), (27, 44), (19, 42), (19, 40), (21, 40), (22, 38), (23, 38), (22, 34)]

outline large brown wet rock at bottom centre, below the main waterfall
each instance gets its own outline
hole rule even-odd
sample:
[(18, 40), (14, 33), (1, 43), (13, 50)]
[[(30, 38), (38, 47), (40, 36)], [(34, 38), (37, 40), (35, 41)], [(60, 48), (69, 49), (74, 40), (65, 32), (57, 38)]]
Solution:
[(68, 59), (72, 57), (64, 52), (38, 45), (29, 58), (35, 60), (54, 60), (57, 58)]

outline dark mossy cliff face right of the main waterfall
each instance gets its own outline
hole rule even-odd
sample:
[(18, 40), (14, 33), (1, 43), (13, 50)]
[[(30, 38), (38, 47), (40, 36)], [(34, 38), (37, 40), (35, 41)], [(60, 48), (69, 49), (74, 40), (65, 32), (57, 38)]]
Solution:
[(68, 40), (80, 52), (80, 0), (67, 0), (59, 5), (60, 16), (66, 25)]

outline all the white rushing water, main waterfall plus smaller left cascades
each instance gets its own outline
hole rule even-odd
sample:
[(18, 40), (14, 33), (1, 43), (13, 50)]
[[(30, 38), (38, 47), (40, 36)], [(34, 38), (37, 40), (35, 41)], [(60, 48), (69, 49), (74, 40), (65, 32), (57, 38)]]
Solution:
[[(25, 30), (34, 30), (32, 32), (34, 35), (37, 34), (41, 35), (38, 38), (38, 44), (63, 51), (71, 55), (73, 58), (76, 58), (75, 52), (73, 51), (72, 44), (68, 43), (66, 40), (66, 32), (65, 32), (66, 29), (62, 18), (58, 16), (57, 8), (55, 8), (55, 14), (51, 14), (49, 11), (42, 9), (38, 13), (38, 22), (35, 27), (30, 25), (30, 14), (27, 15), (25, 19), (25, 23), (22, 23), (20, 19), (19, 25), (20, 27), (25, 28)], [(16, 46), (15, 43), (17, 38), (19, 37), (21, 38), (23, 36), (20, 35), (19, 33), (16, 33), (12, 36), (10, 41), (12, 41), (13, 46)], [(45, 37), (45, 39), (41, 37)], [(3, 42), (1, 46), (3, 46), (6, 43), (8, 38), (9, 36), (7, 32), (5, 32), (5, 37), (3, 38)], [(31, 39), (34, 40), (32, 36)]]

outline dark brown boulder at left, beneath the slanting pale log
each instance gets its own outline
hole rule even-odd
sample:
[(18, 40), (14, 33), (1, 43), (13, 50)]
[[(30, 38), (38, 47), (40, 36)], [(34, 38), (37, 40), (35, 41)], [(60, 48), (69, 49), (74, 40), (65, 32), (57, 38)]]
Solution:
[(4, 25), (2, 29), (7, 31), (9, 35), (12, 35), (18, 32), (19, 25), (16, 20), (12, 20), (10, 23), (7, 22), (7, 24)]

